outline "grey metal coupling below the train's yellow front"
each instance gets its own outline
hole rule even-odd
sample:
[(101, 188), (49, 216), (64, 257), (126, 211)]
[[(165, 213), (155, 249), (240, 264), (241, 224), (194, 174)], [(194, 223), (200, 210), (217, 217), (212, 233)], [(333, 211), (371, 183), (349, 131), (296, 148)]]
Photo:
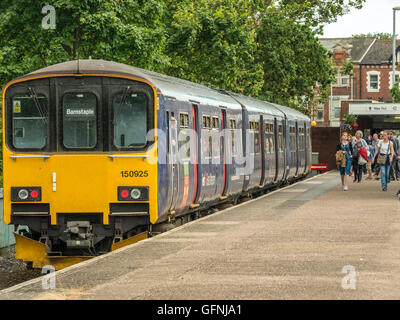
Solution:
[(67, 228), (68, 248), (93, 248), (93, 228), (90, 221), (68, 221)]

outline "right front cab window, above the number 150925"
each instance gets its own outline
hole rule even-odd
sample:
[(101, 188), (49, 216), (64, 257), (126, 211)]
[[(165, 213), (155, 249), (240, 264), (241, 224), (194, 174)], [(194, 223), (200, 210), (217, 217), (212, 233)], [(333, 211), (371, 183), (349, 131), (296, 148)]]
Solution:
[(119, 148), (143, 147), (147, 139), (147, 96), (144, 93), (114, 97), (114, 145)]

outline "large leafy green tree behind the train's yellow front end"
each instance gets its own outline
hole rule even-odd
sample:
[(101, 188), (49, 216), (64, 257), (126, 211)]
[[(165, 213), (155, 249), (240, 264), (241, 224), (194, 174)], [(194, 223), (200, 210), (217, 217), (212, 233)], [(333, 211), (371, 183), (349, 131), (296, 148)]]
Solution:
[(162, 70), (165, 3), (157, 0), (56, 0), (56, 28), (42, 28), (47, 1), (0, 2), (0, 82), (73, 59), (106, 59)]

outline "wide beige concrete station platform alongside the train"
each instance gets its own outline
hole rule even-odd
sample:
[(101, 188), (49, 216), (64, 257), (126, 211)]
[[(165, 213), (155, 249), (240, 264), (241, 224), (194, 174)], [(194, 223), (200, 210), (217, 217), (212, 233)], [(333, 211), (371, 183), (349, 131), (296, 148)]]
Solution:
[(350, 183), (318, 175), (0, 299), (399, 299), (400, 183)]

